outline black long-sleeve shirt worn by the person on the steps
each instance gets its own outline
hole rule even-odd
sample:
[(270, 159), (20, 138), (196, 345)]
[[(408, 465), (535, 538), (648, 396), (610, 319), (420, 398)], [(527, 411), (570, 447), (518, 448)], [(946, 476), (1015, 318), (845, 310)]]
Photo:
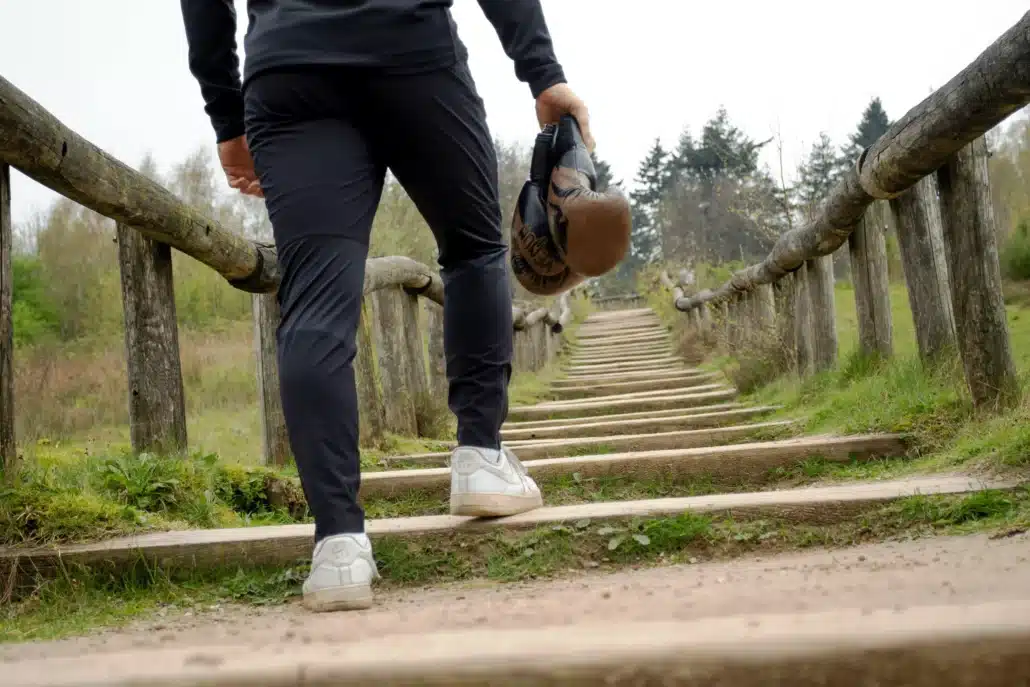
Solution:
[[(540, 0), (478, 1), (534, 98), (564, 81)], [(219, 142), (244, 133), (243, 85), (267, 69), (346, 65), (410, 73), (468, 56), (451, 19), (453, 0), (248, 0), (241, 82), (232, 0), (180, 3), (190, 70)]]

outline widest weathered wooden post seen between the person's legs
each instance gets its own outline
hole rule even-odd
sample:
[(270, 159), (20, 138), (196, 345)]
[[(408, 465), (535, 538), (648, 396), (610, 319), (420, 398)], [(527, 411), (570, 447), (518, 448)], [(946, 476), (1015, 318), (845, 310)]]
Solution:
[(373, 328), (379, 383), (385, 407), (387, 432), (414, 437), (418, 434), (415, 415), (416, 399), (408, 375), (408, 346), (405, 342), (405, 301), (408, 295), (397, 286), (380, 288), (372, 294)]

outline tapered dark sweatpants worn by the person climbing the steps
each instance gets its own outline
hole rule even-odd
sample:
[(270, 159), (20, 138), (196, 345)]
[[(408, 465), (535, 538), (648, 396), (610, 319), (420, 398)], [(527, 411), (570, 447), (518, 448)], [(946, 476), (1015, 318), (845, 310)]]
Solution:
[(315, 538), (360, 533), (352, 363), (387, 168), (440, 249), (457, 440), (500, 447), (512, 314), (486, 113), (460, 61), (403, 75), (340, 67), (267, 72), (248, 83), (245, 107), (279, 256), (282, 406)]

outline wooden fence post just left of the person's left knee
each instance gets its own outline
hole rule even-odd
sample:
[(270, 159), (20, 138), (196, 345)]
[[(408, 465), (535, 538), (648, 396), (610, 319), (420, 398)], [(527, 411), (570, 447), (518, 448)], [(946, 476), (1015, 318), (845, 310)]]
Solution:
[(262, 465), (289, 462), (289, 435), (279, 391), (279, 356), (275, 333), (279, 327), (279, 301), (275, 293), (254, 294), (254, 357), (258, 360), (258, 405), (261, 407)]

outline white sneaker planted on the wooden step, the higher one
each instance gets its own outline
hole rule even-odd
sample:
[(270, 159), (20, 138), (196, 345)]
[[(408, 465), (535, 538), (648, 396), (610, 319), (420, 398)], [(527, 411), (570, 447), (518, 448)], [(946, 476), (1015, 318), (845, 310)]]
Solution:
[(540, 487), (506, 446), (458, 446), (450, 462), (451, 515), (503, 517), (544, 505)]

